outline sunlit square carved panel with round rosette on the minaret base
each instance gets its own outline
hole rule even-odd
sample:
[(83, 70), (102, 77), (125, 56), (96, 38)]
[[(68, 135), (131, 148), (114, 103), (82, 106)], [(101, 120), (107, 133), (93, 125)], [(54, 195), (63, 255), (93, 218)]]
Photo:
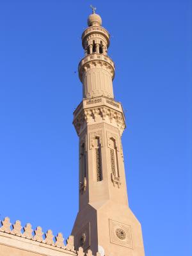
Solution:
[(131, 226), (118, 221), (109, 220), (111, 243), (132, 248)]

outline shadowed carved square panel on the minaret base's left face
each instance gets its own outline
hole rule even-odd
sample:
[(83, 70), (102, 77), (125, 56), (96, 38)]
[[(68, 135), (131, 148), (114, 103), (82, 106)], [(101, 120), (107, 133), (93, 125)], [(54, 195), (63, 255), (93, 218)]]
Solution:
[(83, 250), (86, 250), (90, 247), (90, 222), (84, 225), (83, 228), (75, 236), (75, 247), (82, 247)]

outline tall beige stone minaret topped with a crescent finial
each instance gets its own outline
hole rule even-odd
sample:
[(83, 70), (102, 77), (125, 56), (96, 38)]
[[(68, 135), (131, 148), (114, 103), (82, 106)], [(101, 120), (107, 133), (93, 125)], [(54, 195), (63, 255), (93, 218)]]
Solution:
[(121, 141), (125, 116), (113, 95), (109, 32), (92, 9), (79, 63), (83, 101), (73, 122), (79, 136), (79, 212), (72, 235), (76, 249), (81, 246), (94, 255), (144, 256), (141, 225), (127, 200)]

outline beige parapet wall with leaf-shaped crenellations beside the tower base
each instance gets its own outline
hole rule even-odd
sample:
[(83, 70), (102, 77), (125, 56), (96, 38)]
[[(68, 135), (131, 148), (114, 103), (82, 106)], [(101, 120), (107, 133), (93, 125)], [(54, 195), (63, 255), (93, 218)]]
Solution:
[(8, 217), (1, 221), (0, 256), (92, 256), (91, 250), (88, 253), (84, 253), (81, 247), (78, 251), (74, 250), (73, 236), (69, 236), (66, 242), (65, 245), (63, 234), (54, 236), (52, 230), (47, 230), (44, 234), (41, 227), (33, 230), (30, 223), (22, 227), (19, 220), (13, 225)]

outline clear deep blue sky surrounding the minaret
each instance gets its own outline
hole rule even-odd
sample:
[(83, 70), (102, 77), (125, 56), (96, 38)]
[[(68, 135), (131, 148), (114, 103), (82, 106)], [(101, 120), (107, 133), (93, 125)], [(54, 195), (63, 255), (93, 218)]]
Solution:
[(0, 1), (0, 218), (67, 237), (78, 210), (81, 33), (111, 33), (129, 204), (146, 256), (190, 255), (191, 6), (187, 0)]

